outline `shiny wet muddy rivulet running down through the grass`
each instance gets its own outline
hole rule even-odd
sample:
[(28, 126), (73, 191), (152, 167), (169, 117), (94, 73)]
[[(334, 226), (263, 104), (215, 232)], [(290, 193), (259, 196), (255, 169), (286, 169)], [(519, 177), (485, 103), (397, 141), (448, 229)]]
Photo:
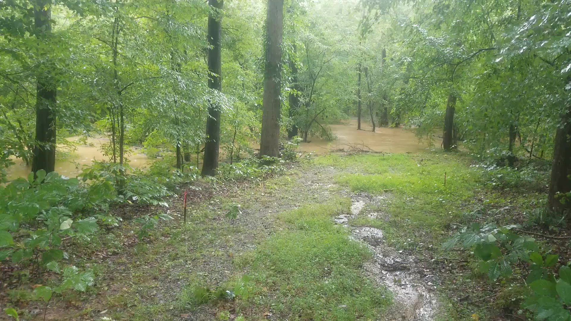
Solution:
[[(377, 197), (373, 202), (379, 203), (386, 199)], [(383, 219), (384, 213), (363, 213), (367, 204), (366, 198), (359, 196), (352, 200), (351, 214), (335, 218), (339, 224), (346, 223), (358, 215)], [(373, 252), (373, 260), (364, 265), (369, 278), (386, 287), (393, 294), (393, 305), (381, 320), (430, 321), (437, 314), (435, 275), (428, 268), (405, 267), (409, 262), (417, 261), (415, 255), (397, 251), (386, 244), (383, 231), (373, 227), (351, 227), (351, 238), (366, 244)]]

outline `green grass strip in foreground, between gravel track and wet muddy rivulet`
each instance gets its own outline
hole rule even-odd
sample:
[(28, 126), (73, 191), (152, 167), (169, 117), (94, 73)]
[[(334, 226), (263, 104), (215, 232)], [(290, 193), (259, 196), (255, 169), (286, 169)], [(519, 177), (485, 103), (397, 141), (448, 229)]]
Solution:
[[(371, 258), (363, 244), (348, 238), (331, 216), (349, 211), (351, 200), (308, 204), (283, 212), (284, 231), (236, 259), (248, 273), (232, 282), (241, 311), (264, 318), (357, 320), (376, 318), (390, 303), (389, 294), (361, 272)], [(196, 291), (194, 289), (188, 292)], [(196, 300), (196, 298), (194, 299)]]

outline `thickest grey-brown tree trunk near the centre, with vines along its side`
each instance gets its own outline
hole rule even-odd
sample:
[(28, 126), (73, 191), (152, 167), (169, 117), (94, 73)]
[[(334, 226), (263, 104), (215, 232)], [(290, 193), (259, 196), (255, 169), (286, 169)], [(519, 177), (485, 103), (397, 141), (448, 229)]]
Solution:
[(280, 90), (282, 74), (283, 0), (268, 0), (266, 17), (266, 71), (264, 72), (264, 100), (260, 156), (279, 156)]

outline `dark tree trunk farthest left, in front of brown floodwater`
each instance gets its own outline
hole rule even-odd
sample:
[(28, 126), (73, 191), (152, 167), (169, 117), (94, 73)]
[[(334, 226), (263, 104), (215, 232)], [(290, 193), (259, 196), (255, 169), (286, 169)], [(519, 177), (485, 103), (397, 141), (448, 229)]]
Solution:
[[(34, 28), (38, 39), (49, 43), (51, 34), (51, 0), (37, 0), (34, 6)], [(36, 131), (32, 171), (55, 170), (55, 105), (57, 85), (48, 68), (42, 68), (36, 84)]]

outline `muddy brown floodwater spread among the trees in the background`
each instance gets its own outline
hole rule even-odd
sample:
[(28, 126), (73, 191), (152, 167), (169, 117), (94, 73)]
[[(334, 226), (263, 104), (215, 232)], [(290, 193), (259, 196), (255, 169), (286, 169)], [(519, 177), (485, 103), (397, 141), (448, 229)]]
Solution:
[[(357, 120), (350, 119), (338, 125), (329, 125), (334, 141), (311, 137), (308, 143), (300, 143), (299, 151), (303, 153), (315, 153), (318, 155), (327, 154), (337, 150), (374, 150), (385, 153), (405, 153), (419, 152), (427, 147), (419, 142), (413, 130), (404, 128), (377, 127), (373, 133), (371, 124), (361, 122), (363, 130), (357, 130)], [(78, 137), (67, 138), (75, 141)], [(93, 160), (108, 160), (104, 156), (100, 147), (107, 143), (108, 139), (103, 137), (87, 138), (87, 145), (78, 145), (71, 156), (66, 159), (58, 159), (55, 163), (55, 171), (59, 174), (74, 177), (81, 172), (83, 165), (89, 165)], [(258, 145), (252, 147), (258, 148)], [(134, 153), (128, 156), (130, 166), (134, 168), (146, 167), (156, 158), (149, 158), (135, 149)], [(31, 166), (26, 166), (22, 159), (14, 159), (14, 165), (7, 170), (8, 180), (18, 177), (27, 177), (31, 171)]]

